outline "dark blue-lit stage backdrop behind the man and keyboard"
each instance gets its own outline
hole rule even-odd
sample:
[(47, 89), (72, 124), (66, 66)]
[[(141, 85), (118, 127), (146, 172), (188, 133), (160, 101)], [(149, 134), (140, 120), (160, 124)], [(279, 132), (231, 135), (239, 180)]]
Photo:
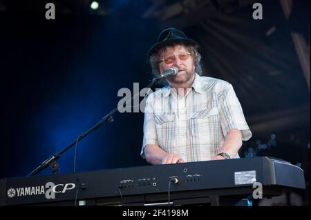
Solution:
[[(283, 0), (282, 0), (283, 1)], [(55, 3), (56, 19), (45, 19)], [(147, 51), (164, 28), (201, 45), (203, 74), (232, 83), (253, 137), (241, 157), (267, 155), (305, 170), (310, 181), (310, 1), (0, 0), (0, 179), (26, 176), (117, 106), (120, 88), (151, 79)], [(252, 4), (263, 5), (254, 20)], [(304, 74), (292, 33), (306, 43)], [(145, 166), (143, 113), (113, 123), (77, 146), (77, 171)], [(73, 148), (58, 160), (73, 172)], [(50, 173), (49, 169), (40, 174)], [(308, 203), (308, 191), (302, 194)]]

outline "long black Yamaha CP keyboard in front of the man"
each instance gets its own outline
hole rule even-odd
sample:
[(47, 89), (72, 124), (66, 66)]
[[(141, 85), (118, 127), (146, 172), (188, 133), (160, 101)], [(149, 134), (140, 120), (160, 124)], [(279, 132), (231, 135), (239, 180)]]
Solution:
[(305, 189), (301, 168), (253, 157), (5, 178), (0, 181), (0, 206), (213, 203), (221, 197), (252, 197), (254, 183), (261, 184), (263, 197)]

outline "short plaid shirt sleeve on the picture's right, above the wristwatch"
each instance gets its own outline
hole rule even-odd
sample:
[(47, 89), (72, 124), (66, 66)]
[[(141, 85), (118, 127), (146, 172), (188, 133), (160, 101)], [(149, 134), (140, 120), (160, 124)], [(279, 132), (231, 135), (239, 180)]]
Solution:
[(252, 132), (246, 123), (241, 104), (231, 84), (229, 84), (220, 97), (219, 110), (220, 124), (224, 136), (230, 130), (238, 129), (242, 133), (243, 141), (247, 141), (252, 137)]

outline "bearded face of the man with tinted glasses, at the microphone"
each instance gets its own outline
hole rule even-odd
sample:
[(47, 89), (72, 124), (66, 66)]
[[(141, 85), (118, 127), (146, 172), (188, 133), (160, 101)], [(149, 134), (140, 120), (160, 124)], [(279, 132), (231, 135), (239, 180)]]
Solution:
[[(187, 58), (187, 59), (185, 59)], [(173, 63), (166, 63), (161, 61), (159, 63), (160, 72), (176, 66), (178, 73), (174, 76), (167, 77), (169, 83), (182, 84), (187, 83), (193, 79), (194, 76), (194, 60), (187, 51), (185, 46), (176, 45), (169, 46), (163, 52), (160, 53), (160, 60), (167, 59), (167, 61), (173, 61)]]

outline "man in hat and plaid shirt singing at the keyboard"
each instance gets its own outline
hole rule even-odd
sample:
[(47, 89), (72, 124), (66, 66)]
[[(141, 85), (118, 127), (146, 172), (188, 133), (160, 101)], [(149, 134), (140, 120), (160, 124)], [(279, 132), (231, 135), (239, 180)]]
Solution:
[(141, 155), (151, 164), (238, 158), (252, 137), (232, 85), (200, 76), (199, 47), (169, 28), (148, 52), (153, 74), (178, 68), (146, 101)]

